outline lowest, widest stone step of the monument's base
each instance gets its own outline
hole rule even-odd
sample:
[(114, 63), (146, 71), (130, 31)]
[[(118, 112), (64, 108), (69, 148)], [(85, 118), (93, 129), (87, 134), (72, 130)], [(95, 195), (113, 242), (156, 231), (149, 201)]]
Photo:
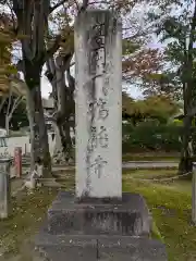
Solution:
[(42, 233), (36, 246), (47, 261), (167, 261), (164, 246), (148, 238)]

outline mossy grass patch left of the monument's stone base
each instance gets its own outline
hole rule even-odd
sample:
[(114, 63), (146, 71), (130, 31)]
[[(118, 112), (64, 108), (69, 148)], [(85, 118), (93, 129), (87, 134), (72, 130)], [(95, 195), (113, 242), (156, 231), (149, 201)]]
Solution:
[(11, 216), (0, 221), (0, 254), (3, 253), (4, 260), (20, 253), (23, 243), (40, 228), (57, 192), (57, 189), (44, 188), (33, 195), (24, 191), (20, 198), (12, 199)]

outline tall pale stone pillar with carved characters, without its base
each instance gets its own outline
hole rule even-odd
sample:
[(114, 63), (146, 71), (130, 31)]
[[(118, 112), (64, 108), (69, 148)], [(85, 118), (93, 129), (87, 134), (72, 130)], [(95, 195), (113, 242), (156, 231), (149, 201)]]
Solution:
[(108, 11), (75, 23), (76, 197), (122, 197), (122, 34)]

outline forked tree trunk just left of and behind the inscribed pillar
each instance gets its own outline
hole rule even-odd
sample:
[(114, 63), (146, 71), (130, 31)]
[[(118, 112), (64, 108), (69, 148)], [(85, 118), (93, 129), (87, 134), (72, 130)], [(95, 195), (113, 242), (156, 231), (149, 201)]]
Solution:
[(52, 85), (56, 110), (56, 148), (53, 161), (56, 163), (70, 163), (73, 161), (73, 146), (71, 139), (71, 115), (73, 113), (73, 97), (71, 88), (65, 84), (64, 71), (70, 66), (72, 54), (59, 55), (56, 61), (50, 59), (47, 63), (48, 78)]

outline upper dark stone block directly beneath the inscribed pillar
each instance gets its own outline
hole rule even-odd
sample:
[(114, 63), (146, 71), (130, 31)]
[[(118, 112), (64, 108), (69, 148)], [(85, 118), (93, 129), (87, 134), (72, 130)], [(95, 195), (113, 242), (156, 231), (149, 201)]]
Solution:
[(83, 199), (61, 191), (48, 210), (48, 232), (81, 235), (149, 236), (151, 216), (144, 198), (123, 194), (122, 199)]

